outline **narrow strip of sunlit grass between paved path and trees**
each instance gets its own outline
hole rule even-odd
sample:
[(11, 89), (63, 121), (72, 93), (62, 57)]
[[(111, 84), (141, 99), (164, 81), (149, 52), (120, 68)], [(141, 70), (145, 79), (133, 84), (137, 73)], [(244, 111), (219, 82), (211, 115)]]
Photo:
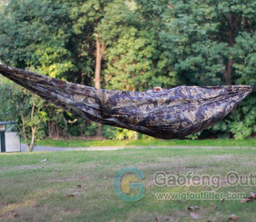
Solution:
[[(24, 141), (21, 141), (24, 143)], [(219, 146), (219, 147), (256, 147), (256, 138), (247, 138), (244, 140), (235, 139), (173, 139), (162, 140), (156, 138), (138, 139), (138, 140), (52, 140), (44, 139), (36, 142), (36, 145), (52, 147), (101, 147), (101, 146)]]

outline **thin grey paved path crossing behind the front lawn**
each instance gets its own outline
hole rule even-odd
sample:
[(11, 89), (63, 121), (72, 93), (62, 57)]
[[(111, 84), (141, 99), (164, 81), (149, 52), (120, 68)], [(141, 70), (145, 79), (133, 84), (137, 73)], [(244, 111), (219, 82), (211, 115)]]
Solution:
[[(213, 148), (233, 148), (241, 149), (248, 147), (200, 147), (200, 146), (126, 146), (126, 147), (47, 147), (47, 146), (35, 146), (34, 151), (65, 151), (65, 150), (122, 150), (125, 148), (204, 148), (204, 149), (213, 149)], [(251, 147), (256, 149), (256, 147)], [(26, 144), (21, 144), (21, 152), (26, 152)]]

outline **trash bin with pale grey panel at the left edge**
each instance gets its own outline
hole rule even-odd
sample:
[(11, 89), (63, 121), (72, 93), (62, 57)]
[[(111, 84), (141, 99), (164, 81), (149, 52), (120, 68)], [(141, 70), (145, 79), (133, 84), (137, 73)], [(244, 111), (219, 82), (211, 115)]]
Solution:
[[(20, 135), (12, 131), (15, 122), (0, 122), (0, 152), (20, 152)], [(9, 126), (9, 127), (7, 127)]]

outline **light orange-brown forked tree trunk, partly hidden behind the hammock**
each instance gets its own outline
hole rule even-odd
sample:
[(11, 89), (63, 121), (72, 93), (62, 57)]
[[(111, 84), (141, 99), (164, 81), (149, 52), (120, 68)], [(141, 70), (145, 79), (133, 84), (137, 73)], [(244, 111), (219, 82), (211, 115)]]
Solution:
[[(102, 44), (99, 42), (98, 34), (96, 34), (96, 65), (95, 65), (95, 88), (100, 89), (100, 70), (102, 55), (106, 49), (107, 44), (105, 41)], [(97, 137), (102, 137), (102, 124), (98, 123)]]

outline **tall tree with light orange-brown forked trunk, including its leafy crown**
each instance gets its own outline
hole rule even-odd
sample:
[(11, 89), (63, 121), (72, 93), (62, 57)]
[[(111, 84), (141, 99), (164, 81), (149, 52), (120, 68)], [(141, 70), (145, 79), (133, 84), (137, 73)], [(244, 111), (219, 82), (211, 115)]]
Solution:
[[(119, 30), (116, 26), (123, 22), (124, 5), (122, 0), (88, 0), (76, 2), (76, 6), (70, 12), (70, 17), (76, 21), (73, 26), (74, 32), (81, 38), (77, 47), (84, 48), (86, 53), (89, 52), (90, 57), (95, 58), (93, 79), (94, 86), (98, 89), (101, 88), (103, 55), (106, 47), (118, 35)], [(84, 36), (87, 36), (86, 45), (89, 43), (89, 50), (88, 47), (84, 47)], [(98, 124), (96, 136), (102, 136), (101, 129), (102, 125)]]

